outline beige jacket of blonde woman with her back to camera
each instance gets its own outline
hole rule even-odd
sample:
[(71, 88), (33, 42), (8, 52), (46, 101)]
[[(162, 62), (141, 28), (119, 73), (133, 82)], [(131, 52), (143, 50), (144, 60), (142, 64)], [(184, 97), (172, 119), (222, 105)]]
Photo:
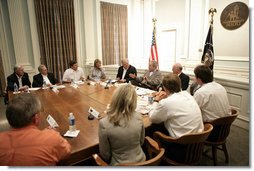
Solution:
[(99, 149), (102, 158), (111, 165), (145, 161), (142, 144), (145, 128), (142, 116), (134, 113), (126, 125), (114, 126), (108, 117), (99, 121)]

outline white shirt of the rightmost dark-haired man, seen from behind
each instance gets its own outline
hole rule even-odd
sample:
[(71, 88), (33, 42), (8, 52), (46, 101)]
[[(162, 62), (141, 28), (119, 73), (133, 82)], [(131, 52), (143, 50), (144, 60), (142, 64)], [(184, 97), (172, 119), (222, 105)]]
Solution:
[(203, 84), (194, 94), (203, 116), (204, 122), (231, 115), (226, 89), (216, 83)]

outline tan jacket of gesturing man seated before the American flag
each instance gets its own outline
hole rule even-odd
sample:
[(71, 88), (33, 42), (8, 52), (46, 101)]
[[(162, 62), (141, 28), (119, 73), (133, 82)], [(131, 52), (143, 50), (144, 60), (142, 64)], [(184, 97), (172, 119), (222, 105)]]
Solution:
[[(144, 80), (144, 77), (147, 78), (147, 81)], [(136, 81), (140, 84), (141, 87), (149, 88), (156, 90), (162, 82), (162, 74), (159, 70), (155, 70), (150, 76), (150, 72), (146, 71), (143, 77), (137, 77)]]

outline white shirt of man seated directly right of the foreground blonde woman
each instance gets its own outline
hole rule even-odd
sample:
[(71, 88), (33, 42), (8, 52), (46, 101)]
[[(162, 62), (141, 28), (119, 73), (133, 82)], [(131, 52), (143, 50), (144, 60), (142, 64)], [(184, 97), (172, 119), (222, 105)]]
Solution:
[(199, 106), (186, 91), (174, 93), (160, 102), (154, 102), (149, 117), (153, 123), (164, 122), (169, 135), (174, 138), (202, 132), (204, 129)]

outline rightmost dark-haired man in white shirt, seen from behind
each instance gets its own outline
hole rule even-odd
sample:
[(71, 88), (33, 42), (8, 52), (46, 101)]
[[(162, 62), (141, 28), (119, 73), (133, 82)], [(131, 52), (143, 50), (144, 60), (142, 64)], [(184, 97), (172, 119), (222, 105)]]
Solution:
[(231, 115), (226, 89), (213, 81), (213, 74), (209, 67), (198, 65), (194, 69), (196, 82), (201, 87), (195, 92), (204, 122)]

